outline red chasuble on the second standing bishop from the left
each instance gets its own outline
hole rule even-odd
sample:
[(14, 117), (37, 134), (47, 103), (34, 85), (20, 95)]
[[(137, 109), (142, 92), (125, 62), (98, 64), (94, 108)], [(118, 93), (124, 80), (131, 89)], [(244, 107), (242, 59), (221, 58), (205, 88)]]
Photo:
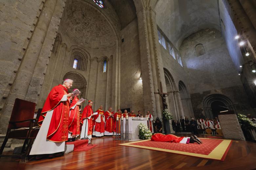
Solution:
[[(72, 133), (72, 135), (80, 134), (80, 118), (79, 118), (80, 108), (79, 106), (76, 105), (78, 100), (79, 100), (78, 97), (75, 96), (70, 105), (69, 132)], [(73, 106), (75, 106), (75, 108), (71, 109)]]

